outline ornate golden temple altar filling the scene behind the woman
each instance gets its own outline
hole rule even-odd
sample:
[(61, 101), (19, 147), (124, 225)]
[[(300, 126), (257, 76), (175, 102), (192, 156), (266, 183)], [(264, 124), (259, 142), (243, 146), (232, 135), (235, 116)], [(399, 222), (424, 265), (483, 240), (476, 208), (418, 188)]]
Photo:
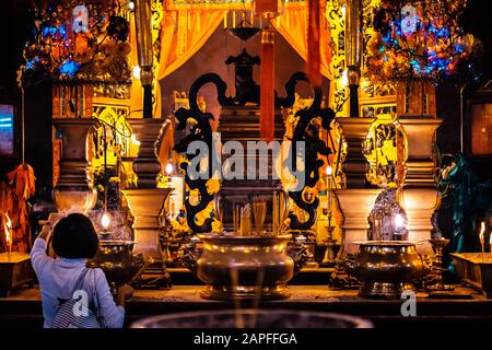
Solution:
[(492, 94), (466, 0), (48, 2), (22, 105), (0, 101), (0, 327), (39, 326), (28, 254), (71, 213), (97, 235), (86, 267), (115, 300), (133, 289), (126, 327), (227, 308), (492, 322)]

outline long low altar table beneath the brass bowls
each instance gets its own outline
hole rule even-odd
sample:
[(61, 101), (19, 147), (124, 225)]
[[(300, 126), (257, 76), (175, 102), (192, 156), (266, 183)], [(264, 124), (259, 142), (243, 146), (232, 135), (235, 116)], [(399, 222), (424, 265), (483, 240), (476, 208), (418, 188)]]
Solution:
[[(197, 285), (175, 285), (169, 290), (138, 290), (128, 302), (127, 322), (142, 317), (173, 314), (196, 310), (222, 310), (232, 304), (204, 301), (198, 296)], [(261, 302), (266, 310), (313, 310), (362, 316), (371, 319), (376, 327), (440, 327), (459, 326), (467, 319), (467, 327), (481, 327), (490, 324), (492, 302), (480, 294), (472, 293), (462, 299), (458, 289), (456, 299), (429, 299), (425, 293), (417, 295), (418, 317), (403, 317), (400, 313), (401, 301), (375, 301), (356, 296), (356, 290), (333, 291), (324, 285), (292, 285), (292, 296), (285, 301)], [(246, 305), (244, 305), (246, 307)], [(40, 300), (37, 289), (24, 289), (8, 299), (0, 300), (0, 325), (7, 328), (39, 327)], [(22, 312), (21, 312), (22, 311)]]

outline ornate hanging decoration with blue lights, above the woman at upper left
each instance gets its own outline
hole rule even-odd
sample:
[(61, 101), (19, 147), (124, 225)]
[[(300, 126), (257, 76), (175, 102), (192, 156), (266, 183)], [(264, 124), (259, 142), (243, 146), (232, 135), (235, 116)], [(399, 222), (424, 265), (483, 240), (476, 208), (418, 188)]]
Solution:
[(119, 0), (52, 0), (33, 9), (22, 84), (43, 80), (129, 83), (128, 21)]

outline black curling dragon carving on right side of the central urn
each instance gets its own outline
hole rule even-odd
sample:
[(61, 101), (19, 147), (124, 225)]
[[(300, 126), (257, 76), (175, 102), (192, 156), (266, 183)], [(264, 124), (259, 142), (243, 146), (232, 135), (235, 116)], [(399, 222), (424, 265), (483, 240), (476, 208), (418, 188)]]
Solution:
[[(295, 86), (297, 82), (309, 82), (306, 74), (303, 72), (295, 73), (285, 83), (285, 97), (279, 97), (278, 104), (282, 107), (291, 107), (295, 102)], [(312, 200), (306, 201), (303, 198), (305, 188), (313, 188), (319, 180), (319, 167), (323, 166), (323, 160), (318, 159), (318, 154), (328, 156), (331, 153), (329, 147), (325, 141), (319, 139), (319, 128), (323, 127), (329, 132), (331, 120), (335, 118), (335, 112), (331, 108), (321, 107), (323, 92), (319, 88), (314, 88), (314, 100), (312, 105), (306, 109), (297, 110), (295, 117), (298, 118), (294, 129), (292, 138), (292, 152), (291, 155), (297, 154), (296, 141), (305, 142), (305, 168), (301, 176), (304, 176), (304, 187), (296, 191), (289, 191), (289, 196), (294, 200), (295, 205), (303, 209), (308, 219), (305, 222), (301, 222), (294, 213), (290, 213), (291, 219), (290, 229), (292, 230), (309, 230), (316, 221), (316, 209), (319, 205), (319, 198), (315, 197)], [(318, 124), (318, 118), (321, 120), (321, 125)], [(297, 168), (296, 156), (292, 160), (288, 159), (284, 165), (295, 171)]]

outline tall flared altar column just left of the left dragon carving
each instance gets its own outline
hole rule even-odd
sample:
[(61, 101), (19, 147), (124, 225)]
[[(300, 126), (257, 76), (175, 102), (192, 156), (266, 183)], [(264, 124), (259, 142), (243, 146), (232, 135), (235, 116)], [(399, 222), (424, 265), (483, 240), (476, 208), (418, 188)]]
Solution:
[(161, 138), (163, 120), (152, 118), (153, 48), (151, 1), (136, 0), (134, 5), (137, 54), (141, 68), (140, 81), (143, 89), (143, 112), (142, 118), (128, 119), (137, 140), (140, 142), (139, 153), (132, 164), (138, 179), (137, 188), (126, 189), (122, 192), (127, 198), (128, 207), (134, 214), (133, 230), (137, 245), (133, 253), (141, 253), (145, 258), (153, 261), (143, 275), (152, 271), (152, 275), (160, 276), (159, 280), (152, 282), (153, 284), (156, 287), (171, 287), (171, 277), (166, 271), (160, 247), (160, 233), (163, 226), (161, 213), (164, 201), (172, 188), (157, 188), (161, 162), (157, 158), (155, 144)]

